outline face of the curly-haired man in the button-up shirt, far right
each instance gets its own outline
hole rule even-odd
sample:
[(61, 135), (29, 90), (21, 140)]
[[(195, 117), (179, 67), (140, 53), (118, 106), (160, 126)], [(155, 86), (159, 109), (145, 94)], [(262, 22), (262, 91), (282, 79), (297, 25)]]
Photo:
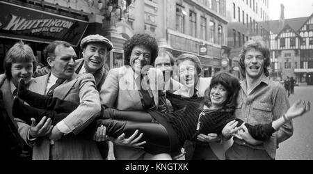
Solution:
[(264, 56), (256, 49), (250, 49), (245, 56), (246, 77), (258, 79), (264, 73)]

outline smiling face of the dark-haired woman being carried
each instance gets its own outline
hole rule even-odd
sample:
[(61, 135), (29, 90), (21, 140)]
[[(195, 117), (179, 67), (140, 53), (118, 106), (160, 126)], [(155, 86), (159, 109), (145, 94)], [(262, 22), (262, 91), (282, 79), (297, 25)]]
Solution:
[(217, 84), (211, 88), (210, 91), (210, 99), (211, 99), (211, 107), (218, 109), (222, 108), (223, 104), (227, 100), (227, 90), (226, 88), (221, 85)]

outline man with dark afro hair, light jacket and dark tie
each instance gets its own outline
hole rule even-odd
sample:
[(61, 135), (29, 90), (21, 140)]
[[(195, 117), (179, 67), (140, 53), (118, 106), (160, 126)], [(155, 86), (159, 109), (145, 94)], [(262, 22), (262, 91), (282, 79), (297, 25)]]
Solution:
[[(159, 88), (153, 87), (152, 84), (156, 84), (154, 82), (158, 80), (152, 79), (154, 75), (150, 76), (150, 72), (154, 74), (153, 72), (158, 71), (147, 73), (147, 69), (154, 65), (158, 50), (157, 40), (147, 34), (136, 34), (127, 40), (124, 47), (125, 66), (109, 71), (100, 91), (101, 104), (106, 108), (118, 110), (157, 109), (159, 106), (159, 90), (157, 89)], [(145, 76), (146, 73), (147, 76)], [(159, 77), (157, 74), (154, 77)], [(154, 156), (141, 149), (116, 145), (116, 143), (114, 156), (118, 160), (168, 158), (166, 155)]]

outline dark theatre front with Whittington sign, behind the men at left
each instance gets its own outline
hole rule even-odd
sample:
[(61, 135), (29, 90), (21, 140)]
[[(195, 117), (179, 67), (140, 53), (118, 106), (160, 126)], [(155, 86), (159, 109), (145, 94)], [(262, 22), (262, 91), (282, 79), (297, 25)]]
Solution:
[[(15, 42), (29, 44), (38, 59), (46, 64), (43, 49), (54, 40), (64, 40), (77, 47), (88, 27), (88, 17), (73, 13), (53, 13), (49, 7), (16, 1), (0, 1), (0, 63)], [(60, 15), (62, 14), (62, 15)], [(0, 66), (0, 73), (3, 72)]]

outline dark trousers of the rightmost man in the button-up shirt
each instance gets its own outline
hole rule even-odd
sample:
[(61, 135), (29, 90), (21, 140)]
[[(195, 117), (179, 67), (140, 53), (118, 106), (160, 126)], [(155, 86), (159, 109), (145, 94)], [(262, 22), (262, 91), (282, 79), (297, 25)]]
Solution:
[(246, 145), (234, 143), (225, 152), (226, 160), (275, 160), (272, 159), (266, 150), (250, 148)]

